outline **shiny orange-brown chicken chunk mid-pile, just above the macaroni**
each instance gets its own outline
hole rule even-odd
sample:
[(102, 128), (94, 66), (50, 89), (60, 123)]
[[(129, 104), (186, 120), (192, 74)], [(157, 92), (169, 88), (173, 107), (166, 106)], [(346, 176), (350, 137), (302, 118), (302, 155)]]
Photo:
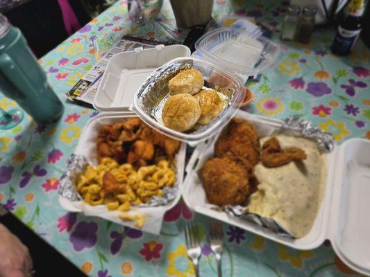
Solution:
[(146, 166), (154, 156), (154, 145), (150, 141), (135, 141), (127, 155), (127, 162), (135, 166)]

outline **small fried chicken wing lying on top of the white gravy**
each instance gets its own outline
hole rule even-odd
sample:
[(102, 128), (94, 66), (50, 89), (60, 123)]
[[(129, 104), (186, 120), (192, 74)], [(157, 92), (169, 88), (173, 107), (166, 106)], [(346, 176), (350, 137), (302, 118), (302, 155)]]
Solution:
[(261, 161), (267, 168), (283, 166), (291, 161), (304, 160), (307, 155), (300, 148), (287, 148), (282, 150), (278, 139), (273, 136), (262, 145)]

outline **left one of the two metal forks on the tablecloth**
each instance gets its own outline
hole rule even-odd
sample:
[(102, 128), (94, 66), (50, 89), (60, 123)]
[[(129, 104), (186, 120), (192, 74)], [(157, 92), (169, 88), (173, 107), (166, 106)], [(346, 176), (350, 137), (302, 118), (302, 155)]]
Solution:
[(199, 258), (201, 257), (201, 244), (199, 242), (198, 229), (192, 220), (185, 221), (185, 240), (187, 256), (192, 260), (195, 268), (195, 276), (199, 277)]

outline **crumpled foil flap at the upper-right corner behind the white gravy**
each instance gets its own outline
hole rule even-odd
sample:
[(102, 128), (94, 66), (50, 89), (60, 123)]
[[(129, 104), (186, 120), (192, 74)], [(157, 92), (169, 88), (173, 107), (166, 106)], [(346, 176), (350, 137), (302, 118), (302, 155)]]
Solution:
[(278, 132), (291, 136), (303, 136), (306, 139), (316, 141), (321, 152), (331, 152), (334, 148), (333, 135), (322, 131), (309, 120), (289, 116), (283, 120), (283, 125)]

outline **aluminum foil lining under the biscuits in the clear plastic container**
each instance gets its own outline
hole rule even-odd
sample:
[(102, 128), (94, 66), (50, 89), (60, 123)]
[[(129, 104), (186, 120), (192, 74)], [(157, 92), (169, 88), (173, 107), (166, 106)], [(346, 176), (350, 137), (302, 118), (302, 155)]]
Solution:
[[(168, 82), (171, 78), (174, 78), (176, 74), (180, 71), (186, 69), (193, 69), (194, 62), (190, 59), (181, 60), (174, 62), (173, 64), (164, 65), (153, 71), (153, 73), (146, 78), (142, 86), (137, 92), (137, 99), (139, 100), (139, 106), (142, 111), (154, 118), (158, 123), (162, 124), (162, 109), (165, 105), (165, 101), (169, 98), (169, 87)], [(212, 86), (205, 80), (205, 84)], [(210, 89), (210, 87), (203, 87), (202, 89)], [(212, 88), (214, 89), (214, 88)], [(190, 131), (191, 134), (199, 134), (205, 129), (212, 128), (213, 125), (217, 124), (219, 118), (222, 118), (228, 108), (230, 103), (233, 102), (236, 97), (234, 89), (215, 89), (218, 93), (223, 93), (227, 97), (224, 109), (219, 113), (219, 115), (214, 118), (208, 125), (196, 125)], [(222, 97), (224, 99), (224, 97)]]

